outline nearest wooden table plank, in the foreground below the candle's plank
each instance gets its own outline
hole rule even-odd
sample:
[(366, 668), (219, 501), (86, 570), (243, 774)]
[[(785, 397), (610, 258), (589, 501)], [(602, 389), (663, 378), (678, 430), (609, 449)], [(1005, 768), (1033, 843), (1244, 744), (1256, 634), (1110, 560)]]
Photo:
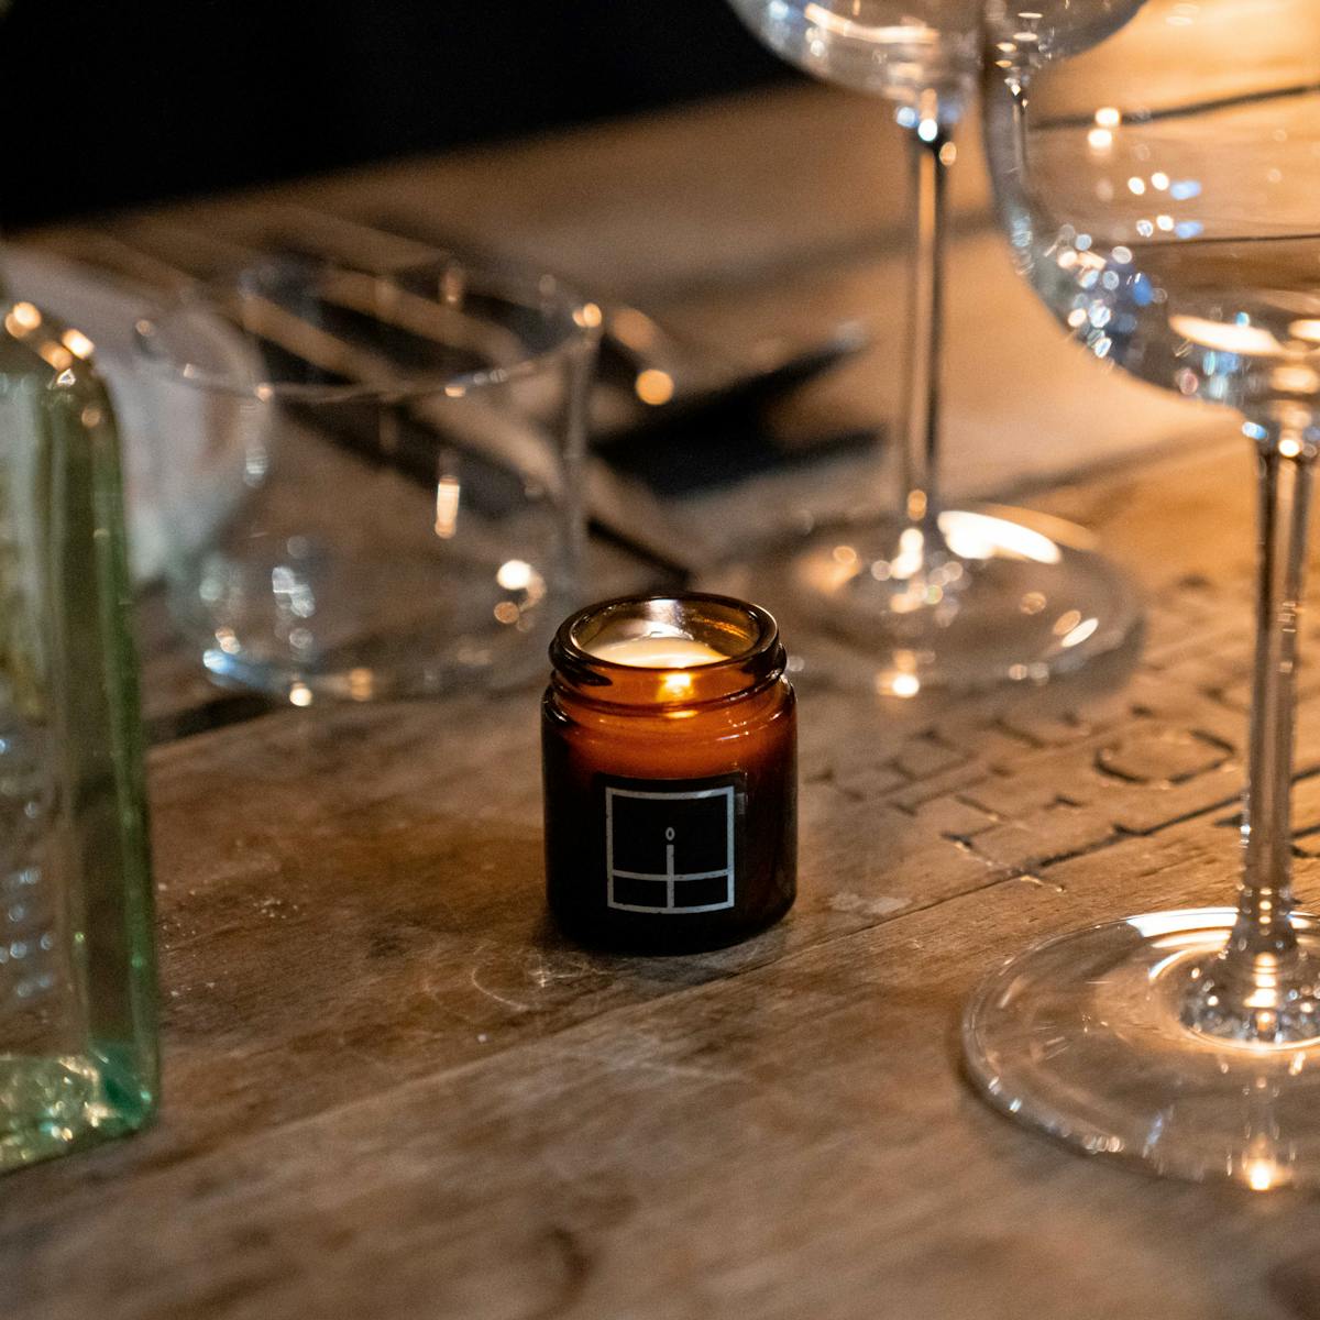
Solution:
[(58, 1218), (8, 1206), (11, 1315), (1312, 1316), (1313, 1201), (1280, 1232), (1250, 1193), (1090, 1166), (983, 1110), (953, 1057), (999, 950), (1203, 902), (1228, 853), (1205, 821), (1129, 841), (108, 1180)]

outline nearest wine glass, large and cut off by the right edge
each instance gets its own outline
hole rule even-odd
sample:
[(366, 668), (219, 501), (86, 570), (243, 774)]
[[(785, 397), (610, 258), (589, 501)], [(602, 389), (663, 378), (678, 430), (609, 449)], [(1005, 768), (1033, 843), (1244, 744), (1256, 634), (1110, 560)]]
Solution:
[(1290, 821), (1320, 442), (1320, 7), (1147, 0), (1072, 58), (991, 42), (986, 133), (1023, 271), (1097, 358), (1241, 413), (1261, 525), (1237, 906), (1010, 960), (968, 1007), (968, 1068), (1086, 1151), (1320, 1183), (1320, 928), (1294, 911)]

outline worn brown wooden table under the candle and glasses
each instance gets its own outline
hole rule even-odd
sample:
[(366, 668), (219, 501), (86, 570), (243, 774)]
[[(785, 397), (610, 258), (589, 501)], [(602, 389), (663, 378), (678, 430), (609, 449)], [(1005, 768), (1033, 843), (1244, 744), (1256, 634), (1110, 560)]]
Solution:
[[(820, 323), (891, 282), (882, 117), (792, 91), (282, 198), (499, 232), (709, 334)], [(1006, 953), (1226, 899), (1251, 552), (1232, 420), (1064, 346), (1003, 280), (974, 166), (962, 186), (953, 477), (1034, 486), (1098, 531), (1148, 593), (1140, 659), (1028, 704), (804, 690), (795, 912), (735, 949), (640, 960), (546, 924), (535, 692), (249, 704), (207, 730), (215, 694), (150, 634), (174, 734), (150, 762), (165, 1110), (5, 1180), (5, 1320), (1320, 1316), (1320, 1204), (1084, 1160), (958, 1076), (961, 1005)], [(280, 199), (132, 223), (239, 232)], [(1011, 392), (985, 342), (1005, 325)], [(891, 375), (859, 368), (821, 407), (842, 389), (884, 411)], [(1023, 442), (969, 475), (978, 409)], [(1043, 420), (1055, 454), (1028, 444)], [(1316, 689), (1303, 676), (1304, 896)]]

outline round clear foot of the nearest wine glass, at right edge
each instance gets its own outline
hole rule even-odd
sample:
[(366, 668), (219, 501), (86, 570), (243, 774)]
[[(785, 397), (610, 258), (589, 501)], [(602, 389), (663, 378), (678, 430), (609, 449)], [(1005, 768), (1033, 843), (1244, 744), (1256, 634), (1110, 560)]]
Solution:
[[(1221, 1040), (1179, 1016), (1236, 916), (1152, 912), (1011, 958), (964, 1015), (969, 1077), (997, 1109), (1086, 1154), (1255, 1191), (1320, 1185), (1320, 1038)], [(1316, 919), (1291, 920), (1320, 956)]]

